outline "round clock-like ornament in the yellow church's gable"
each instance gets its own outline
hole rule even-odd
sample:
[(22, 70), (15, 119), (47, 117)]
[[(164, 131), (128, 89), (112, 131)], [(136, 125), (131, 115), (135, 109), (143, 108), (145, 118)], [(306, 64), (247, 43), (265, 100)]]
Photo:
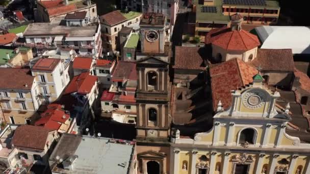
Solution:
[(262, 107), (266, 102), (266, 95), (259, 90), (251, 90), (243, 96), (243, 104), (249, 109)]

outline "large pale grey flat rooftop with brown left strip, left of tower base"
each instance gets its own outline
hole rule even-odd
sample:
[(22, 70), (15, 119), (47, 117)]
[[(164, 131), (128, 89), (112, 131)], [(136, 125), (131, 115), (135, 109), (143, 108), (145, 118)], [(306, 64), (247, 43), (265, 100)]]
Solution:
[[(110, 138), (63, 134), (50, 160), (56, 157), (66, 161), (70, 156), (77, 156), (73, 170), (54, 167), (52, 171), (62, 173), (128, 173), (134, 145), (122, 143), (123, 140), (111, 141)], [(51, 163), (52, 161), (50, 161)]]

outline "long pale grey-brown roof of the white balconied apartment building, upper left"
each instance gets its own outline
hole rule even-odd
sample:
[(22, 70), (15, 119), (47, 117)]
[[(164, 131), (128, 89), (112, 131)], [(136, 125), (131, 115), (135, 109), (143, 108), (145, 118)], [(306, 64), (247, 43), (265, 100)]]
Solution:
[(50, 23), (31, 23), (23, 36), (66, 35), (67, 37), (92, 37), (97, 26), (63, 26)]

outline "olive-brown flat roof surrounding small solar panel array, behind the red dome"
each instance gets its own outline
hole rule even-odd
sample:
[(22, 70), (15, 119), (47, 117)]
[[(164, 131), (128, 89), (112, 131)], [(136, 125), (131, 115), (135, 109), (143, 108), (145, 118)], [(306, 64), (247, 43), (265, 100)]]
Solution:
[[(196, 21), (197, 22), (215, 22), (215, 23), (228, 23), (229, 16), (225, 16), (222, 13), (222, 2), (221, 0), (214, 0), (214, 6), (203, 6), (198, 3), (198, 0), (194, 0), (196, 4)], [(216, 11), (214, 13), (202, 12), (203, 7), (214, 7)]]

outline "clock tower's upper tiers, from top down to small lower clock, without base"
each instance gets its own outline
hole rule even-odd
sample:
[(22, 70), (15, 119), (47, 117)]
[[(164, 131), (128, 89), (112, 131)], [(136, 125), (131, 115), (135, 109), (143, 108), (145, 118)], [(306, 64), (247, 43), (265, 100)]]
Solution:
[(141, 52), (137, 53), (137, 139), (169, 136), (169, 50), (165, 45), (165, 16), (144, 14), (140, 22)]

